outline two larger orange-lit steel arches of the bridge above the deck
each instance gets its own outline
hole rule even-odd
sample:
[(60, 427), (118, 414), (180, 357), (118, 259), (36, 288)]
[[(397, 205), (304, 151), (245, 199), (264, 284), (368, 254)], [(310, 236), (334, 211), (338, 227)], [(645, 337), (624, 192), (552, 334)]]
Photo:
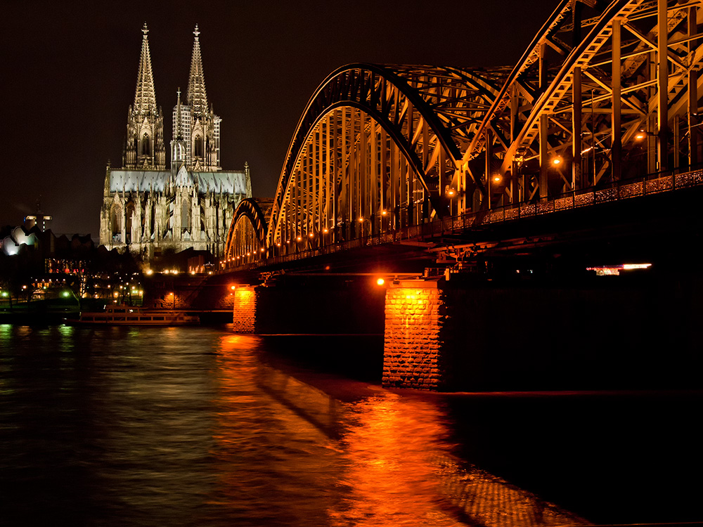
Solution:
[[(271, 219), (252, 220), (253, 250), (291, 254), (693, 167), (702, 7), (562, 0), (512, 69), (341, 67), (299, 119)], [(227, 254), (243, 248), (228, 242)]]

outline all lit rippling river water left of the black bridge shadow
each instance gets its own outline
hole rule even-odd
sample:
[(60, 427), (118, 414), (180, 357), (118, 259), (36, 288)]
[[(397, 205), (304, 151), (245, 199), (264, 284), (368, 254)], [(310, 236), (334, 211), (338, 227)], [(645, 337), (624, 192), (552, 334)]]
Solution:
[(270, 358), (225, 328), (0, 327), (0, 524), (586, 523), (458, 457), (479, 427), (454, 444), (443, 398)]

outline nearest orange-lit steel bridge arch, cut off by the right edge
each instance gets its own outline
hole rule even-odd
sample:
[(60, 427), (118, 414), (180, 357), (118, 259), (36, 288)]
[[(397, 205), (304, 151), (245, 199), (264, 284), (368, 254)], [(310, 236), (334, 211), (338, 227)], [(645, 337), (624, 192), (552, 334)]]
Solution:
[(499, 167), (482, 205), (695, 164), (702, 5), (562, 1), (464, 152), (463, 171)]

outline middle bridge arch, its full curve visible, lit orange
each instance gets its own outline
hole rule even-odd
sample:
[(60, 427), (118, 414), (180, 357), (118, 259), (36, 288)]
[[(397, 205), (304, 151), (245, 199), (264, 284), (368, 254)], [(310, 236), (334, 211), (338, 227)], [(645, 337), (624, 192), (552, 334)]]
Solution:
[(445, 191), (507, 73), (352, 64), (330, 74), (292, 137), (268, 246), (288, 254), (452, 212)]

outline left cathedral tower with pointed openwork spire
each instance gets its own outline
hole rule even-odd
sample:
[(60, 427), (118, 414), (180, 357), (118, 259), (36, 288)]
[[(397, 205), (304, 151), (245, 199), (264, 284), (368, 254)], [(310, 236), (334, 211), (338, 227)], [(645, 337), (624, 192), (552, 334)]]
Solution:
[(126, 169), (163, 170), (166, 167), (164, 147), (164, 118), (156, 105), (154, 77), (149, 53), (149, 30), (144, 22), (141, 30), (139, 72), (136, 78), (134, 105), (127, 112), (127, 141), (122, 166)]

